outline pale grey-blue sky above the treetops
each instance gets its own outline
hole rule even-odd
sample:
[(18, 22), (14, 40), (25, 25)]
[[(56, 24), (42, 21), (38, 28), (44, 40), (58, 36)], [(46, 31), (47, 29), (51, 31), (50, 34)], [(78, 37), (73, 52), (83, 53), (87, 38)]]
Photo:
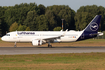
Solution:
[(14, 6), (21, 3), (33, 3), (44, 6), (69, 5), (70, 8), (77, 11), (81, 6), (97, 5), (105, 7), (105, 0), (0, 0), (0, 6)]

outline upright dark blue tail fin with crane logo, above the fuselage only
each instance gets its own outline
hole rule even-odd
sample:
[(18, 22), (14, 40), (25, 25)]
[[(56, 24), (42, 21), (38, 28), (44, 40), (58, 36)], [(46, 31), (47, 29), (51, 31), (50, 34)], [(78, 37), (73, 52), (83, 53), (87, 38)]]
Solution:
[(94, 19), (89, 23), (89, 25), (84, 29), (84, 31), (97, 32), (99, 29), (100, 20), (101, 20), (101, 15), (96, 15)]

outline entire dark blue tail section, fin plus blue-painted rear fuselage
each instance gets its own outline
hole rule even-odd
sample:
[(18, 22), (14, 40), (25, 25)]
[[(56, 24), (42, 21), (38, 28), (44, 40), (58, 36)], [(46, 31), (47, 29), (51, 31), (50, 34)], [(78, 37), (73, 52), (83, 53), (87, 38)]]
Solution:
[(83, 30), (83, 33), (78, 38), (78, 40), (84, 40), (96, 37), (100, 21), (101, 21), (101, 15), (96, 15), (94, 19), (89, 23), (89, 25)]

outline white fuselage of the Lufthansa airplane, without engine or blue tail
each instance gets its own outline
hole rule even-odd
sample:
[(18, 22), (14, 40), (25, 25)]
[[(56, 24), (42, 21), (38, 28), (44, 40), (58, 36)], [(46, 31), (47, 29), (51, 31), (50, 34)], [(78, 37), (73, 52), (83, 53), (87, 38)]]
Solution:
[[(83, 31), (67, 31), (64, 36), (61, 36), (64, 31), (14, 31), (9, 32), (2, 37), (3, 41), (8, 42), (32, 42), (32, 40), (53, 40), (53, 42), (74, 42)], [(57, 38), (59, 37), (59, 38)]]

